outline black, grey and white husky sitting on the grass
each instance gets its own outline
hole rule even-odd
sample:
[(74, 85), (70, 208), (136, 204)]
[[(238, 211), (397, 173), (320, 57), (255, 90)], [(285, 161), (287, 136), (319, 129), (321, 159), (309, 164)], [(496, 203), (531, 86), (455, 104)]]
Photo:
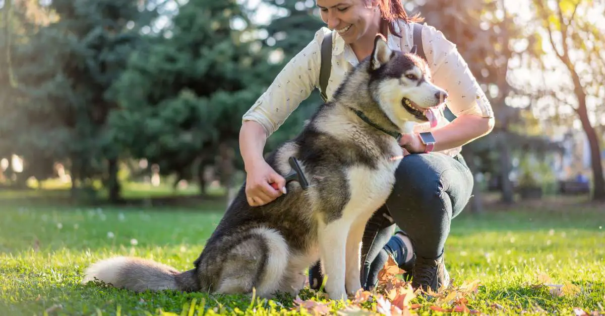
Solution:
[(433, 120), (447, 94), (430, 82), (414, 54), (388, 48), (382, 36), (348, 74), (332, 100), (302, 132), (270, 153), (267, 163), (290, 172), (299, 161), (309, 187), (287, 184), (287, 194), (260, 207), (246, 201), (245, 184), (229, 205), (194, 268), (179, 272), (151, 260), (114, 257), (91, 265), (83, 282), (99, 279), (133, 291), (177, 289), (260, 297), (296, 295), (304, 271), (321, 259), (330, 298), (361, 289), (365, 224), (391, 193), (403, 153), (398, 131)]

